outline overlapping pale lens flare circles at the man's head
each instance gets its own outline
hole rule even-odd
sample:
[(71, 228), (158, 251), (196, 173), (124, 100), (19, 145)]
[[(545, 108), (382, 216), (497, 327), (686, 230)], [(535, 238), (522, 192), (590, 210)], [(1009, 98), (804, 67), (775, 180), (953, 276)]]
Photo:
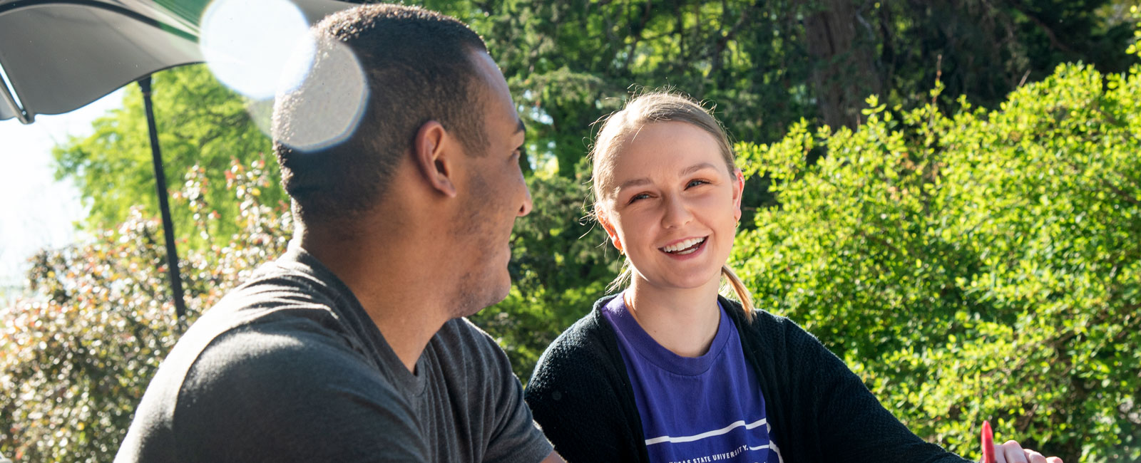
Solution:
[[(356, 130), (367, 99), (353, 51), (321, 47), (309, 23), (289, 0), (215, 0), (202, 16), (207, 65), (221, 83), (248, 98), (246, 111), (266, 135), (294, 148), (319, 149)], [(297, 91), (281, 133), (270, 133), (275, 96)]]

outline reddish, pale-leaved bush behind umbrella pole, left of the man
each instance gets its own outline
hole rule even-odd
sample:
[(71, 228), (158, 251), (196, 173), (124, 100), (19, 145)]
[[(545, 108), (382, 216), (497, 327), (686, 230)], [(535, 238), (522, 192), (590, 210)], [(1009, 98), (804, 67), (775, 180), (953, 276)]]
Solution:
[[(290, 214), (260, 203), (273, 185), (265, 160), (234, 163), (226, 188), (241, 204), (205, 250), (181, 247), (187, 323), (258, 263), (280, 254)], [(203, 200), (205, 170), (192, 168), (172, 202), (200, 230), (220, 216)], [(209, 236), (203, 236), (209, 239)], [(169, 302), (162, 228), (136, 210), (87, 244), (33, 258), (31, 295), (0, 309), (0, 453), (29, 462), (110, 462), (151, 376), (181, 333)]]

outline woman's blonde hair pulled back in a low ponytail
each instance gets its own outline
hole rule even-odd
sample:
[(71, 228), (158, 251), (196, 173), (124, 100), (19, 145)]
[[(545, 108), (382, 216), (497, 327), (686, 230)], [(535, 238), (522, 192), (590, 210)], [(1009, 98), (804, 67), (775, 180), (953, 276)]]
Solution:
[[(602, 211), (601, 198), (605, 197), (602, 192), (613, 179), (614, 156), (618, 154), (628, 138), (646, 124), (685, 122), (709, 132), (717, 140), (721, 157), (725, 160), (726, 168), (729, 169), (729, 174), (733, 176), (736, 170), (736, 155), (733, 152), (733, 145), (729, 144), (729, 136), (709, 111), (689, 97), (662, 90), (642, 94), (628, 101), (622, 111), (605, 116), (601, 121), (602, 128), (598, 131), (594, 146), (590, 149), (591, 193), (594, 196), (594, 204), (590, 213), (596, 220), (599, 220)], [(630, 276), (630, 261), (625, 260), (622, 262), (622, 273), (610, 282), (606, 291), (613, 292), (625, 286)], [(721, 276), (741, 300), (745, 319), (752, 322), (754, 306), (748, 289), (728, 265), (721, 266)]]

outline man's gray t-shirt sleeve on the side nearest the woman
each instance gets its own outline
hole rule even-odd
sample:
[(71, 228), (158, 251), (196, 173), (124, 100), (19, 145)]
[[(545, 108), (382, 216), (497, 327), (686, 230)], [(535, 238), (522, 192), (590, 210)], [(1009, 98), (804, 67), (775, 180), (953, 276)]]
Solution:
[(507, 354), (486, 333), (480, 334), (483, 357), (489, 360), (487, 398), (494, 411), (486, 415), (489, 422), (484, 423), (491, 432), (484, 462), (540, 462), (553, 447), (523, 400), (523, 384), (511, 371)]

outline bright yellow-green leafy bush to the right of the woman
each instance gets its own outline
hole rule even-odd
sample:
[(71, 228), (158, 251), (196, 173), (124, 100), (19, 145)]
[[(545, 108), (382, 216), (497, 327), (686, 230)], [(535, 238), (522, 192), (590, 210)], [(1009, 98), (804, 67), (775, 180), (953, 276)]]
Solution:
[(738, 146), (779, 203), (734, 254), (758, 306), (960, 454), (978, 455), (990, 419), (1068, 462), (1136, 461), (1139, 74), (1063, 65), (953, 116), (872, 97), (856, 131), (801, 123)]

